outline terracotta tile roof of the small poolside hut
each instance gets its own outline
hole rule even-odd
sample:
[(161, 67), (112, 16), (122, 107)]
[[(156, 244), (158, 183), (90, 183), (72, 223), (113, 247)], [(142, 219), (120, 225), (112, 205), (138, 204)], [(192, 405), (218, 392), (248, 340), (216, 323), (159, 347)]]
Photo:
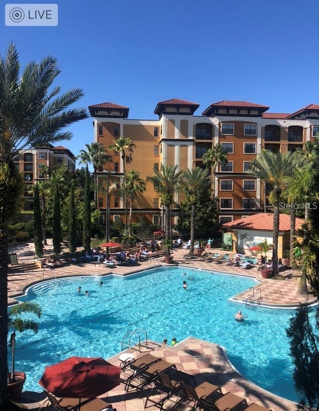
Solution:
[[(223, 228), (236, 228), (244, 230), (262, 230), (273, 231), (273, 214), (271, 213), (259, 213), (253, 214), (249, 217), (241, 218), (240, 220), (230, 221), (223, 224)], [(296, 218), (296, 230), (299, 230), (304, 223), (302, 218)], [(279, 218), (279, 231), (290, 230), (290, 215), (280, 214)]]

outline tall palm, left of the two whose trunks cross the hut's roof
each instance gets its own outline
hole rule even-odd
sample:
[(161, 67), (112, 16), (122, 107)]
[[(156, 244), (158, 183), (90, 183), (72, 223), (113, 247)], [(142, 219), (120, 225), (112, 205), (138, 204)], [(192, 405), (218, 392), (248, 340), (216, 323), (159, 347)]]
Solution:
[(254, 177), (272, 186), (272, 205), (274, 213), (273, 230), (273, 274), (278, 275), (278, 237), (279, 237), (279, 203), (282, 190), (287, 184), (287, 173), (291, 170), (292, 157), (290, 154), (272, 153), (262, 150), (256, 158), (251, 161), (248, 171)]

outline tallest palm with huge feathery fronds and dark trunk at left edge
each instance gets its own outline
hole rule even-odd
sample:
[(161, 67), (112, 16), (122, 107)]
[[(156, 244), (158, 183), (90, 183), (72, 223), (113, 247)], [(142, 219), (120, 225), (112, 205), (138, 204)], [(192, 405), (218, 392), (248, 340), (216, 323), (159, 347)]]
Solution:
[(31, 61), (21, 72), (14, 44), (0, 56), (0, 409), (9, 410), (7, 395), (7, 255), (8, 224), (23, 189), (13, 158), (23, 149), (72, 138), (63, 129), (88, 118), (86, 109), (70, 108), (83, 96), (79, 88), (60, 93), (52, 87), (60, 70), (48, 56)]

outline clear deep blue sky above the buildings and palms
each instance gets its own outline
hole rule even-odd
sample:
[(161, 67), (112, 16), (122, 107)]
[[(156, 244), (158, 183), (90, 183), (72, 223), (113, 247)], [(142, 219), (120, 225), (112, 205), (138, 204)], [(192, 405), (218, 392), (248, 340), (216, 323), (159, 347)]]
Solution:
[[(220, 100), (270, 112), (319, 103), (318, 0), (52, 2), (56, 27), (7, 27), (2, 17), (0, 53), (13, 41), (22, 66), (54, 55), (55, 85), (83, 88), (84, 107), (112, 101), (129, 118), (154, 119), (156, 104), (174, 97), (199, 103), (197, 115)], [(70, 130), (61, 144), (78, 155), (93, 141), (92, 118)]]

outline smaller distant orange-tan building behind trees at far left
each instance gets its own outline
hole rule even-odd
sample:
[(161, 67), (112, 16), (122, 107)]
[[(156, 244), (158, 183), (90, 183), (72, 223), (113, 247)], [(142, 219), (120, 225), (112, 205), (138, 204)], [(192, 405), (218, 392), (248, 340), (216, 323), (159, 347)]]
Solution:
[(46, 165), (53, 169), (57, 164), (64, 164), (70, 170), (75, 171), (75, 156), (65, 147), (54, 147), (52, 144), (46, 144), (32, 150), (23, 150), (15, 156), (14, 164), (23, 174), (23, 208), (24, 210), (33, 210), (33, 194), (30, 192), (29, 186), (45, 178), (41, 173), (41, 168)]

